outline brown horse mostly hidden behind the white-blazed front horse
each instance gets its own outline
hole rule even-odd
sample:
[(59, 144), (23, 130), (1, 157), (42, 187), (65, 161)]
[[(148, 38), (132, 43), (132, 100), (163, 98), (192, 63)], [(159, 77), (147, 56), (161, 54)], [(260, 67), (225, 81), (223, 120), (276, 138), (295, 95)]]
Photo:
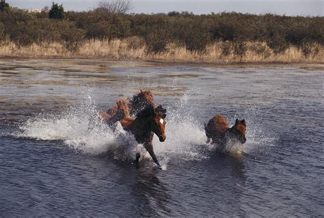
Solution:
[[(125, 101), (127, 102), (130, 116), (136, 116), (139, 111), (145, 109), (148, 105), (152, 105), (152, 107), (155, 108), (153, 95), (150, 90), (140, 90), (140, 92), (134, 95), (132, 99), (122, 99), (124, 99), (124, 103)], [(100, 117), (109, 125), (115, 124), (124, 118), (122, 111), (118, 110), (118, 101), (116, 103), (117, 106), (110, 107), (107, 112), (99, 111)]]

